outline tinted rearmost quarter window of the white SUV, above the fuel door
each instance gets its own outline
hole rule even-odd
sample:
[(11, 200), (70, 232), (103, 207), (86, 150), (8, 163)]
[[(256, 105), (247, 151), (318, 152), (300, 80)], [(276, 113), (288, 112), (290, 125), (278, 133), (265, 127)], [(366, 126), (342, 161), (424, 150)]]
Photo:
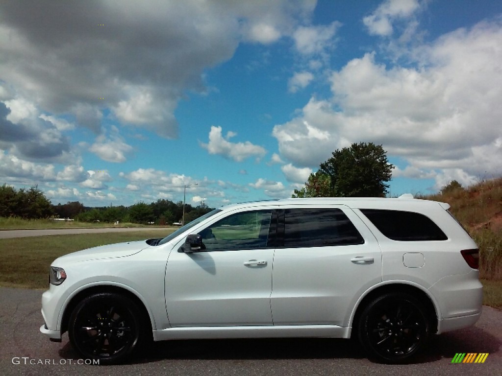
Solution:
[(360, 209), (386, 237), (401, 242), (448, 240), (429, 217), (398, 210)]

